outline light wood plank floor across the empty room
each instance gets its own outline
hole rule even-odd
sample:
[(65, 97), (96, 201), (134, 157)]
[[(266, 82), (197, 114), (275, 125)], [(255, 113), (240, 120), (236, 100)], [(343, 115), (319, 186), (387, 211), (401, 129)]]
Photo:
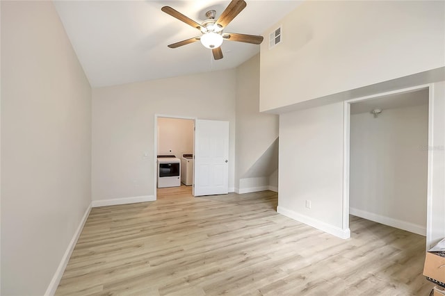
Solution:
[(276, 213), (275, 192), (93, 208), (56, 295), (428, 295), (425, 238), (350, 217), (342, 240)]

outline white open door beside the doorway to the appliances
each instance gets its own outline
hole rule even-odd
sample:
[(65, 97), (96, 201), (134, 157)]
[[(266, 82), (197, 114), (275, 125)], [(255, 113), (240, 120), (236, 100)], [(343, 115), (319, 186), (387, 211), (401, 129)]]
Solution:
[(195, 120), (193, 195), (229, 192), (229, 122)]

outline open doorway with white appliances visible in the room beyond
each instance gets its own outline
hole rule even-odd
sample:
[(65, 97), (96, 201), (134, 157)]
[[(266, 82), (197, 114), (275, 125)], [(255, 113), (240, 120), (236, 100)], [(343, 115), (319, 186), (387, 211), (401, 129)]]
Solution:
[(195, 118), (155, 116), (156, 198), (192, 197)]

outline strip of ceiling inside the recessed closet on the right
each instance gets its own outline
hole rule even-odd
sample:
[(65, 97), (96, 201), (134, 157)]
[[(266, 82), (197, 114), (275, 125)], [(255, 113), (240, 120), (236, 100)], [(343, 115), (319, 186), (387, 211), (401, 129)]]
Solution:
[(405, 108), (428, 104), (428, 88), (405, 92), (402, 94), (391, 94), (366, 101), (350, 104), (350, 113), (371, 113), (374, 109), (382, 109), (383, 112), (392, 108)]

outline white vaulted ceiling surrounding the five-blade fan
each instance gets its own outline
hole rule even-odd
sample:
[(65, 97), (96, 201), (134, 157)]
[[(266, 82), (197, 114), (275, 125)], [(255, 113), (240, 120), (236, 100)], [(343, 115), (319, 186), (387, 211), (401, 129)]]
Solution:
[[(161, 11), (171, 6), (201, 23), (207, 10), (216, 18), (230, 1), (54, 1), (79, 61), (93, 88), (230, 69), (259, 52), (259, 45), (225, 40), (224, 58), (195, 42), (168, 44), (201, 35)], [(225, 32), (261, 35), (301, 1), (246, 1), (248, 6)], [(268, 42), (264, 36), (264, 42)]]

